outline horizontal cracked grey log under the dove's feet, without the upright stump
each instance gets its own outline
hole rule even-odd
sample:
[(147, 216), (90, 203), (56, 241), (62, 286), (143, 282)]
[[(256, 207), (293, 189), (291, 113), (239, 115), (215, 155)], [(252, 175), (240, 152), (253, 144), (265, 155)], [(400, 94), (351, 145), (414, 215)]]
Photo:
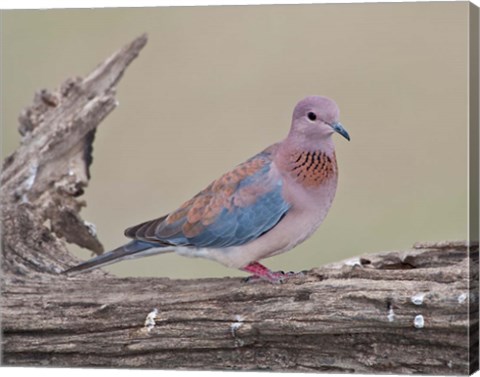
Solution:
[[(446, 246), (364, 256), (278, 286), (238, 278), (7, 279), (3, 361), (464, 374), (473, 362), (469, 303), (477, 301), (466, 245)], [(470, 314), (476, 327), (478, 312)]]

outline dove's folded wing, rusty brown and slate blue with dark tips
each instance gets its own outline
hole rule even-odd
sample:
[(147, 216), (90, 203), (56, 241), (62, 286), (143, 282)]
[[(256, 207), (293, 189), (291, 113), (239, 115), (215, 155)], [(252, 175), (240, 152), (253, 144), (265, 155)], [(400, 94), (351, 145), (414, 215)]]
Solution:
[(176, 246), (221, 248), (250, 242), (272, 229), (290, 204), (267, 149), (212, 182), (167, 216), (125, 231), (127, 237)]

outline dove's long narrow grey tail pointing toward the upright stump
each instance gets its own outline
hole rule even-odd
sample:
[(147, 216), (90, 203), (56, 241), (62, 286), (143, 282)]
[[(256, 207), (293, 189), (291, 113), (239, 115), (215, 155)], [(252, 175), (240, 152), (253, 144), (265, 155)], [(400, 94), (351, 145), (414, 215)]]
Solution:
[(104, 267), (106, 265), (120, 262), (124, 259), (134, 259), (147, 255), (167, 253), (173, 251), (171, 247), (161, 246), (158, 244), (133, 240), (123, 246), (120, 246), (112, 251), (103, 253), (98, 257), (87, 260), (76, 266), (73, 266), (65, 271), (63, 274), (73, 274), (79, 272), (86, 272), (95, 268)]

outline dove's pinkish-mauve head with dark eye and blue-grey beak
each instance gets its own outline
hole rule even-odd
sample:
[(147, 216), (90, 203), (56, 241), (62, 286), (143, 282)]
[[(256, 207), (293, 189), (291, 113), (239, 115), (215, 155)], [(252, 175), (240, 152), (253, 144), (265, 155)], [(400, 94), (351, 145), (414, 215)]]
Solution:
[(339, 133), (350, 140), (350, 135), (338, 121), (337, 104), (327, 98), (310, 96), (301, 100), (293, 111), (291, 135), (312, 143), (328, 140)]

